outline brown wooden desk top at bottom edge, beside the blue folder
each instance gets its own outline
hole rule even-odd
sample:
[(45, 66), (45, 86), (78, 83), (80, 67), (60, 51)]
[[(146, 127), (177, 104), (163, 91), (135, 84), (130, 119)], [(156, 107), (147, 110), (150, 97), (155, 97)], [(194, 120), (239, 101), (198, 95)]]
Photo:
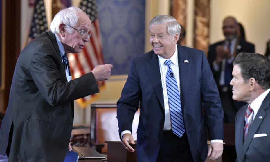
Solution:
[(105, 157), (91, 147), (73, 147), (81, 162), (101, 162)]

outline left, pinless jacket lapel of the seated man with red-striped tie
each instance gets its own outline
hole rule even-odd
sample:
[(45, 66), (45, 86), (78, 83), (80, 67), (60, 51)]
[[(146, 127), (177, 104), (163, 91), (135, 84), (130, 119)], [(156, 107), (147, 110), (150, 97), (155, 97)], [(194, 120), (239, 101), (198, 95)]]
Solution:
[[(244, 120), (245, 120), (245, 112), (248, 105), (244, 105), (237, 116), (237, 121), (240, 121), (236, 123), (235, 125), (235, 149), (237, 153), (237, 157), (242, 157), (242, 147), (244, 143)], [(241, 159), (238, 159), (239, 161), (242, 161)]]

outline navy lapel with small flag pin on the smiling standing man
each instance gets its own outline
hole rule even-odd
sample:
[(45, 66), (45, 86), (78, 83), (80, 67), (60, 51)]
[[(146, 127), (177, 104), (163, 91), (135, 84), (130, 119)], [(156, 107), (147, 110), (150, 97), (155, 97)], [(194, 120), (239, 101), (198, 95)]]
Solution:
[[(181, 47), (177, 46), (178, 50), (178, 66), (179, 66), (179, 75), (180, 75), (180, 98), (181, 98), (181, 107), (183, 108), (185, 105), (184, 95), (188, 94), (188, 84), (190, 82), (190, 66), (192, 64), (192, 60), (190, 60), (190, 56), (186, 51)], [(183, 109), (183, 111), (185, 111)]]

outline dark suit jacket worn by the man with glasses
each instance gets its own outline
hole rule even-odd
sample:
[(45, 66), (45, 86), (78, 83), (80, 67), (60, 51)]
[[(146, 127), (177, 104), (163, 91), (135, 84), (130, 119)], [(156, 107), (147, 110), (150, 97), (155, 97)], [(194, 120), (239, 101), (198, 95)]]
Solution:
[(73, 125), (73, 100), (97, 93), (93, 73), (67, 82), (55, 35), (30, 42), (15, 67), (0, 153), (10, 162), (64, 161)]

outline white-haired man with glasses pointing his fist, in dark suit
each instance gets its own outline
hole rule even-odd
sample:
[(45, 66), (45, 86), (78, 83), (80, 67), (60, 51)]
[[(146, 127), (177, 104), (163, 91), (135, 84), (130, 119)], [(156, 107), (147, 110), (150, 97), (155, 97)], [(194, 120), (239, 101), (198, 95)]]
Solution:
[(111, 64), (71, 80), (66, 53), (89, 42), (91, 20), (79, 8), (58, 12), (51, 32), (30, 42), (19, 55), (8, 109), (0, 130), (0, 153), (8, 161), (64, 161), (74, 117), (73, 100), (98, 93)]

